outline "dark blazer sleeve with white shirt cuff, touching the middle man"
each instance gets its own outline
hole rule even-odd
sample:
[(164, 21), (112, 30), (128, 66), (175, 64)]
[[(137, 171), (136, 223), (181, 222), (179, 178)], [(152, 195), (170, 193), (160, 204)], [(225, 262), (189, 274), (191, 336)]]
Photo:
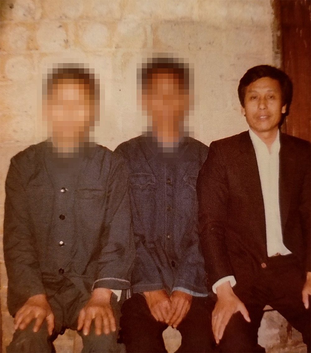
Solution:
[(225, 163), (211, 143), (209, 154), (197, 180), (199, 202), (199, 236), (202, 244), (205, 269), (210, 285), (219, 279), (233, 276), (225, 242), (225, 228), (229, 202)]

